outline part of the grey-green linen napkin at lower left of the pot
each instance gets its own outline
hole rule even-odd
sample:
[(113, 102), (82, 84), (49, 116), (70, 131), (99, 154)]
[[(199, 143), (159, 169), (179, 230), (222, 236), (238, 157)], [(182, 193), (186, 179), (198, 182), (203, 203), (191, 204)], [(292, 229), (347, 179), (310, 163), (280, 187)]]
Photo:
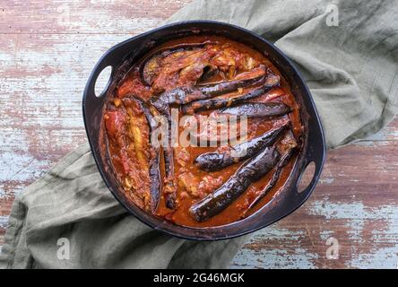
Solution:
[[(69, 255), (59, 257), (67, 240)], [(195, 242), (152, 230), (105, 186), (85, 143), (13, 203), (5, 268), (223, 268), (245, 238)]]

